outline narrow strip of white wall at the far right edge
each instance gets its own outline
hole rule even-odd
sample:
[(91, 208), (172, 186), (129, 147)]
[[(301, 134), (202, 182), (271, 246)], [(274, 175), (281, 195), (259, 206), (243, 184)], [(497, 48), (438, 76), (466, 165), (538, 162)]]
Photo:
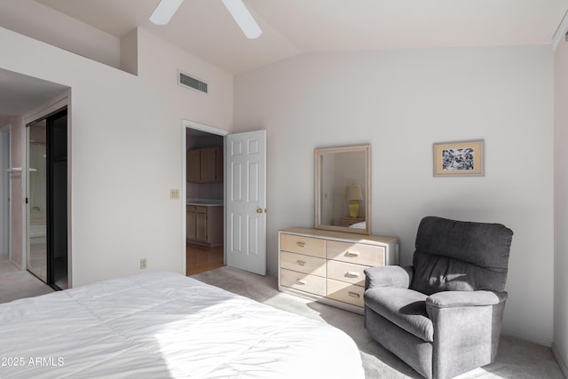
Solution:
[(556, 360), (568, 376), (568, 43), (555, 54), (555, 271), (554, 344)]

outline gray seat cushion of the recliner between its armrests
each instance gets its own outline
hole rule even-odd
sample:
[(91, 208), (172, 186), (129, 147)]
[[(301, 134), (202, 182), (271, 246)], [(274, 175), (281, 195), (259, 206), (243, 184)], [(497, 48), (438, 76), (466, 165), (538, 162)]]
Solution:
[(426, 313), (426, 297), (413, 289), (378, 287), (365, 291), (365, 304), (398, 328), (432, 342), (434, 327)]

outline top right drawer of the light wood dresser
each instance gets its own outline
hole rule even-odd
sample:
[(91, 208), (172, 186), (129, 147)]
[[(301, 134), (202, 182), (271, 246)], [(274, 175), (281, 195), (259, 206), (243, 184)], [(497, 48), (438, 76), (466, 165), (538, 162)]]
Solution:
[(327, 259), (335, 259), (356, 265), (384, 265), (383, 246), (364, 243), (327, 241), (326, 256)]

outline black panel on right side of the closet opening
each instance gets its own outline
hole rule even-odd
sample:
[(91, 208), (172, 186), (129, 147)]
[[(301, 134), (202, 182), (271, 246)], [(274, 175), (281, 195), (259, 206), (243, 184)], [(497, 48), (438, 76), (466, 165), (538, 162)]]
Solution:
[(46, 119), (47, 284), (67, 283), (67, 108)]

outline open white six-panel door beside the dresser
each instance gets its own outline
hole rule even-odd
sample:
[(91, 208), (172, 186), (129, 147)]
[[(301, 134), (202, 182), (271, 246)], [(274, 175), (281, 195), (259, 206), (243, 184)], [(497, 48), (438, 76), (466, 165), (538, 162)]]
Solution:
[(229, 134), (226, 265), (266, 275), (266, 130)]

